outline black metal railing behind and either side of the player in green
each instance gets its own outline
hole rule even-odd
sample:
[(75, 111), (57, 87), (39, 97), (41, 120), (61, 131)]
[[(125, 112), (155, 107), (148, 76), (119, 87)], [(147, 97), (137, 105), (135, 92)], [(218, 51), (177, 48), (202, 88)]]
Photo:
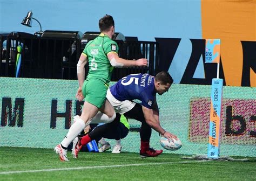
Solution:
[[(112, 81), (132, 73), (150, 73), (158, 69), (158, 44), (151, 41), (116, 40), (119, 57), (147, 58), (148, 67), (114, 68)], [(79, 38), (37, 37), (23, 32), (0, 34), (0, 76), (15, 77), (17, 46), (21, 45), (22, 62), (18, 77), (77, 79), (76, 64), (84, 45)], [(86, 67), (86, 74), (88, 66)]]

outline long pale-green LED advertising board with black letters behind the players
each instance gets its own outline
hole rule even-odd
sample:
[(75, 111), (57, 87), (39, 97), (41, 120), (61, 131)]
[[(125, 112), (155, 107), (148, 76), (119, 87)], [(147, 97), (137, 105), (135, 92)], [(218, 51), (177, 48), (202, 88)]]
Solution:
[[(72, 117), (80, 114), (76, 80), (2, 77), (0, 82), (1, 147), (54, 148), (68, 132)], [(255, 92), (255, 87), (224, 86), (221, 156), (256, 156)], [(165, 153), (207, 154), (210, 94), (208, 85), (174, 84), (157, 96), (161, 126), (183, 142), (181, 149)], [(140, 122), (130, 124), (123, 151), (138, 152)], [(161, 149), (159, 138), (152, 131), (152, 147)]]

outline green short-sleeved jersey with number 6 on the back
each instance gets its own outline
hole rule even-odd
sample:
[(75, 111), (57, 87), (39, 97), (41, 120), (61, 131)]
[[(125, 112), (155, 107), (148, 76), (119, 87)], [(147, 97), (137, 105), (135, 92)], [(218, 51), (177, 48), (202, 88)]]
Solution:
[(107, 54), (114, 52), (118, 54), (118, 45), (103, 33), (86, 44), (83, 53), (89, 60), (89, 73), (87, 80), (99, 79), (109, 83), (113, 71)]

